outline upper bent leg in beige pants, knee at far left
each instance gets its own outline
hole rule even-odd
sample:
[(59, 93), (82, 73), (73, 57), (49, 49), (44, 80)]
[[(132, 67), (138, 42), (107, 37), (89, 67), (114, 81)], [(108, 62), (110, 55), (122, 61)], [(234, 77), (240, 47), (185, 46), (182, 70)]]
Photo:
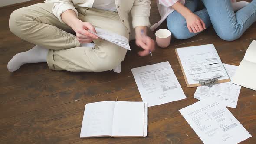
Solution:
[(9, 20), (11, 32), (47, 49), (69, 49), (80, 45), (74, 31), (52, 12), (53, 3), (38, 3), (15, 10)]

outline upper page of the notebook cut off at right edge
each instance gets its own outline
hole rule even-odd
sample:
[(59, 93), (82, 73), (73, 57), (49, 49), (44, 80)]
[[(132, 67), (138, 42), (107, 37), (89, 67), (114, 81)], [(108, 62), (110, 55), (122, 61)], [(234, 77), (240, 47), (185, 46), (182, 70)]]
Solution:
[(256, 41), (255, 40), (253, 40), (253, 42), (250, 44), (250, 46), (246, 50), (246, 53), (243, 59), (256, 63)]

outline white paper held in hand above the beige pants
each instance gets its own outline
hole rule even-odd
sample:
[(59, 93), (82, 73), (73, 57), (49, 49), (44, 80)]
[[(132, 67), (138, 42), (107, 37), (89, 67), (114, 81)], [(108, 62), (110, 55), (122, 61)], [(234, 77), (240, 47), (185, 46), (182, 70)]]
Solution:
[(94, 33), (91, 30), (89, 30), (89, 32), (95, 34), (99, 38), (105, 39), (108, 42), (114, 43), (114, 44), (121, 46), (125, 49), (131, 50), (129, 41), (125, 36), (121, 36), (121, 35), (118, 35), (117, 33), (113, 33), (113, 32), (108, 32), (104, 29), (100, 29), (97, 27), (95, 27), (95, 29), (96, 29), (97, 33)]

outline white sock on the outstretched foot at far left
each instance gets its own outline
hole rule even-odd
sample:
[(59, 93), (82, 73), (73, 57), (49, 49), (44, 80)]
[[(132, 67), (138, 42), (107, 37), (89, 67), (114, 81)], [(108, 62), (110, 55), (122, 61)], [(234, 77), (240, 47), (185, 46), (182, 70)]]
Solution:
[(13, 56), (10, 62), (8, 62), (7, 68), (10, 72), (14, 72), (26, 63), (46, 62), (47, 54), (48, 49), (36, 45), (26, 52), (21, 52)]

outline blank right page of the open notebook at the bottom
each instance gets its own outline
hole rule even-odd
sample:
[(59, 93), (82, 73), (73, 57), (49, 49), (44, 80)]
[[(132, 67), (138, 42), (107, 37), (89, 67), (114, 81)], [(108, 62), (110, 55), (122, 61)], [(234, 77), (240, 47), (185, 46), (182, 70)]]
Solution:
[(144, 136), (144, 102), (115, 102), (112, 137)]

